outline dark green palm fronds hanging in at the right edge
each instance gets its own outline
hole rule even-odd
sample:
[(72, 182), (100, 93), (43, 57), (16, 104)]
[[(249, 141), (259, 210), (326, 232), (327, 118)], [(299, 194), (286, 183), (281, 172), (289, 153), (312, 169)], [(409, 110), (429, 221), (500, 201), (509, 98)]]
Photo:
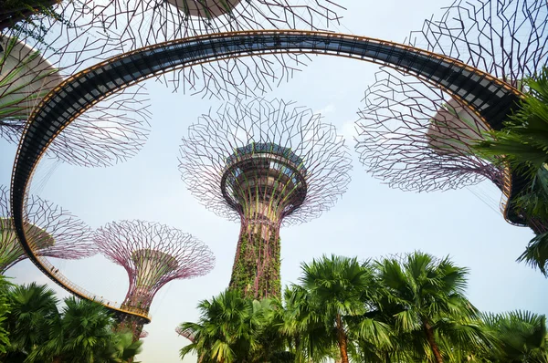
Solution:
[(515, 200), (519, 213), (537, 234), (518, 261), (538, 267), (548, 276), (548, 68), (524, 80), (529, 94), (500, 131), (480, 142), (479, 155), (508, 163), (525, 177), (524, 192)]

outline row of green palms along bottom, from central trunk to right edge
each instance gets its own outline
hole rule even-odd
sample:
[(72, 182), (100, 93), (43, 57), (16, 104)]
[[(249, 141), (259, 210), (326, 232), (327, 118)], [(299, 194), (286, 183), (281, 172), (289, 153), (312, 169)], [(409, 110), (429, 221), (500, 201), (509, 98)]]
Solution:
[(300, 285), (280, 298), (250, 300), (227, 290), (201, 302), (199, 322), (180, 326), (193, 336), (181, 357), (195, 352), (201, 363), (548, 363), (544, 316), (481, 318), (464, 296), (467, 276), (447, 257), (420, 252), (374, 264), (323, 256), (302, 264)]

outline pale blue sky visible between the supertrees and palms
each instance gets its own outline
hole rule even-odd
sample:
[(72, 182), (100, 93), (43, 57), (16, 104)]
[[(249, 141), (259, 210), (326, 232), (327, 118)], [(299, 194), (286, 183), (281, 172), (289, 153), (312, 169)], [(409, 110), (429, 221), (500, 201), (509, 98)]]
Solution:
[[(425, 18), (440, 14), (447, 1), (382, 2), (345, 0), (342, 33), (403, 42)], [(363, 107), (364, 90), (374, 82), (378, 66), (353, 59), (312, 57), (289, 82), (264, 97), (293, 100), (321, 112), (347, 139), (353, 155), (352, 181), (332, 210), (309, 223), (282, 228), (282, 284), (297, 283), (300, 263), (322, 254), (374, 259), (421, 250), (469, 268), (467, 295), (480, 310), (513, 309), (546, 314), (548, 282), (538, 271), (515, 262), (532, 238), (527, 228), (506, 223), (498, 210), (500, 192), (490, 181), (448, 192), (402, 192), (390, 189), (364, 171), (353, 150), (353, 122)], [(186, 190), (178, 171), (181, 138), (190, 124), (222, 101), (173, 93), (147, 81), (152, 132), (143, 150), (131, 160), (110, 168), (81, 168), (46, 160), (37, 171), (32, 191), (56, 202), (89, 223), (92, 228), (119, 220), (142, 219), (164, 223), (192, 233), (216, 255), (216, 267), (192, 280), (165, 285), (155, 296), (152, 323), (144, 330), (144, 363), (181, 361), (178, 350), (188, 341), (174, 329), (196, 321), (200, 300), (223, 291), (230, 278), (239, 227), (207, 211)], [(0, 140), (0, 183), (9, 185), (16, 146)], [(479, 196), (488, 196), (485, 202)], [(112, 301), (121, 302), (128, 279), (123, 268), (100, 255), (79, 261), (54, 260), (73, 282)], [(68, 296), (28, 261), (16, 264), (6, 275), (16, 283), (37, 281)], [(184, 362), (195, 362), (188, 357)]]

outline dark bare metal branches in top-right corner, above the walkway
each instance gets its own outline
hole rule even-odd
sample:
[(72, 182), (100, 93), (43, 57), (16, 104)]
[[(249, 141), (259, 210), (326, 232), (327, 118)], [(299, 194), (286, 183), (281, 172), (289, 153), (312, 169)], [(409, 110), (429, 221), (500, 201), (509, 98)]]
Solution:
[(545, 0), (458, 0), (443, 10), (411, 32), (411, 44), (457, 58), (514, 87), (548, 62)]

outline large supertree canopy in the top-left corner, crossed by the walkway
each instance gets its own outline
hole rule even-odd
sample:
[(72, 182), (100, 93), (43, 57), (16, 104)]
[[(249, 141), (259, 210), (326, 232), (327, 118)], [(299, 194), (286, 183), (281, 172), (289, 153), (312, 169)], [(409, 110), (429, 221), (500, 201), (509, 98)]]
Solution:
[[(0, 33), (0, 138), (18, 142), (32, 109), (51, 89), (121, 50), (97, 21), (79, 15), (78, 3), (58, 5), (57, 12), (31, 16)], [(124, 89), (80, 117), (48, 155), (85, 166), (126, 160), (148, 136), (148, 102), (142, 86)]]

